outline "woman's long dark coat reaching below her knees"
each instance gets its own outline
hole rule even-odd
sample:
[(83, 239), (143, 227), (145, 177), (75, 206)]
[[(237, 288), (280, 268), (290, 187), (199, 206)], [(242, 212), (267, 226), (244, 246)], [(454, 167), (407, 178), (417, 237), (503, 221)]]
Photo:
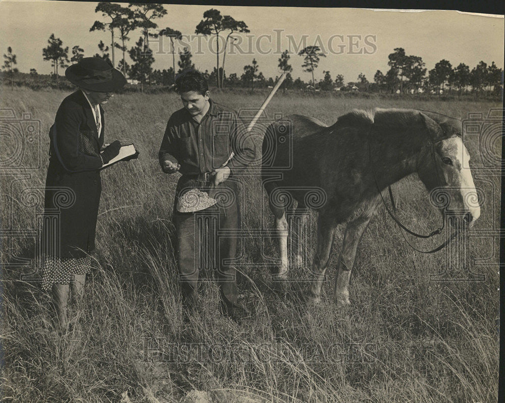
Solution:
[(49, 167), (45, 183), (42, 251), (47, 255), (83, 257), (95, 248), (96, 217), (102, 182), (100, 149), (93, 112), (78, 90), (65, 98), (49, 131)]

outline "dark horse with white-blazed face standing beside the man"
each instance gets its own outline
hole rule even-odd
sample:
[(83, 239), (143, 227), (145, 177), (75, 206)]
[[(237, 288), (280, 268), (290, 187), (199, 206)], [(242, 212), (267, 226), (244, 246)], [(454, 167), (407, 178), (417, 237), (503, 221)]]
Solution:
[[(287, 278), (286, 212), (296, 201), (294, 212), (301, 217), (294, 231), (298, 242), (309, 209), (319, 213), (311, 265), (314, 279), (307, 299), (316, 303), (321, 300), (335, 228), (344, 223), (333, 301), (348, 305), (356, 251), (376, 213), (380, 192), (417, 172), (432, 197), (436, 191), (443, 191), (444, 202), (439, 201), (437, 207), (444, 224), (450, 216), (452, 227), (469, 228), (480, 215), (469, 160), (461, 121), (436, 112), (353, 110), (331, 126), (302, 115), (274, 121), (265, 131), (261, 161), (262, 183), (279, 240), (280, 266), (274, 279)], [(300, 251), (298, 245), (298, 264)]]

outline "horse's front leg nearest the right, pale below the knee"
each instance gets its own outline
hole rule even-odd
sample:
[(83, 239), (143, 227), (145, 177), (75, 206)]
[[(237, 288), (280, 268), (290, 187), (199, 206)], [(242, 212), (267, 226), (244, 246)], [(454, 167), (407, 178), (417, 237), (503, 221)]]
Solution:
[(356, 250), (373, 214), (363, 215), (347, 223), (342, 250), (337, 262), (333, 300), (338, 305), (349, 305), (349, 280), (356, 258)]

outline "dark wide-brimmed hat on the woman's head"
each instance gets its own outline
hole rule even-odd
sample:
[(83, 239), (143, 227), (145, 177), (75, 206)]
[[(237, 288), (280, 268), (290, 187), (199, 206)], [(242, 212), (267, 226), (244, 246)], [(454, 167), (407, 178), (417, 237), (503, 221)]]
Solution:
[(65, 76), (73, 84), (98, 93), (118, 91), (126, 84), (119, 71), (97, 57), (85, 57), (65, 70)]

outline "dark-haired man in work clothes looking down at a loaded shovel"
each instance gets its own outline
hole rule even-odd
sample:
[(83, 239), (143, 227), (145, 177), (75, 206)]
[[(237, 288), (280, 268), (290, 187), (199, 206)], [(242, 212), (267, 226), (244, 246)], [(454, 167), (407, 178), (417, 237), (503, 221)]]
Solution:
[[(216, 239), (217, 230), (240, 228), (236, 176), (255, 158), (255, 147), (247, 133), (240, 130), (235, 112), (210, 99), (205, 77), (188, 70), (176, 79), (177, 93), (183, 108), (170, 117), (159, 158), (165, 173), (181, 172), (174, 203), (174, 225), (177, 232), (177, 263), (181, 280), (183, 304), (191, 310), (197, 300), (199, 269), (204, 268), (201, 255), (205, 219), (211, 223), (210, 238)], [(233, 153), (233, 154), (232, 154)], [(230, 156), (232, 158), (230, 159)], [(217, 203), (204, 210), (180, 212), (177, 202), (188, 189), (209, 190), (210, 194), (231, 192), (226, 203)], [(213, 218), (211, 218), (213, 217)], [(217, 226), (212, 222), (217, 220)], [(220, 289), (223, 313), (239, 321), (247, 316), (237, 303), (235, 236), (217, 237), (212, 265)], [(212, 249), (212, 248), (211, 248)]]

